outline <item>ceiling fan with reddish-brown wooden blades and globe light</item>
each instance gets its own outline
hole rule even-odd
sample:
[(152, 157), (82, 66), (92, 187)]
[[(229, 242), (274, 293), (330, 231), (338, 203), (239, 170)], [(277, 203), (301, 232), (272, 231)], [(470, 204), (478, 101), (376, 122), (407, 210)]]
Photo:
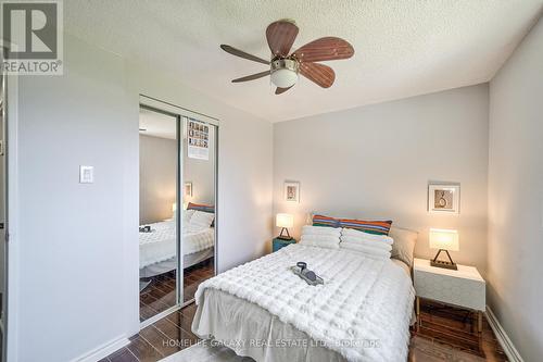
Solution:
[(280, 20), (268, 25), (266, 39), (272, 50), (270, 61), (220, 45), (227, 53), (269, 65), (268, 71), (237, 78), (232, 83), (254, 80), (269, 75), (272, 83), (277, 86), (275, 93), (280, 95), (295, 85), (300, 73), (320, 87), (329, 88), (336, 79), (336, 73), (331, 67), (315, 62), (351, 58), (354, 54), (353, 47), (341, 38), (324, 37), (306, 43), (289, 55), (298, 32), (298, 26), (290, 20)]

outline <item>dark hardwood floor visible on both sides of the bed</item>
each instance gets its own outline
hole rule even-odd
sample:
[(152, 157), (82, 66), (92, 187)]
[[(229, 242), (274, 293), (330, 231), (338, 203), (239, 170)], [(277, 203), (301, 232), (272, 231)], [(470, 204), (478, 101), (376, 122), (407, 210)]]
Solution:
[[(99, 362), (154, 362), (198, 342), (191, 330), (195, 304), (142, 329), (130, 345)], [(481, 338), (472, 332), (472, 315), (459, 309), (422, 301), (422, 325), (412, 329), (409, 362), (507, 361), (487, 321)]]

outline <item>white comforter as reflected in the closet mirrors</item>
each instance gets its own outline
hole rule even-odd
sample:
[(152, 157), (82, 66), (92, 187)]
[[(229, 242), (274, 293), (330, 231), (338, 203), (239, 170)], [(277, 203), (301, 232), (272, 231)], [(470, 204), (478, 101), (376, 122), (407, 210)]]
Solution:
[[(150, 224), (152, 233), (139, 233), (139, 267), (160, 263), (176, 254), (175, 221)], [(185, 255), (213, 247), (215, 230), (187, 228), (182, 234)]]

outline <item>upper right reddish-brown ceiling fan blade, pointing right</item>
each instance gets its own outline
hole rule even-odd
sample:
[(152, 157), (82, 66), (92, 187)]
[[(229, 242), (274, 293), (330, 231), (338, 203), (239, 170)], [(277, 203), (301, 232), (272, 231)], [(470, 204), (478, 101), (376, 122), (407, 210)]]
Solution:
[(353, 57), (354, 49), (346, 41), (336, 37), (325, 37), (306, 43), (294, 51), (293, 55), (301, 62), (323, 62)]

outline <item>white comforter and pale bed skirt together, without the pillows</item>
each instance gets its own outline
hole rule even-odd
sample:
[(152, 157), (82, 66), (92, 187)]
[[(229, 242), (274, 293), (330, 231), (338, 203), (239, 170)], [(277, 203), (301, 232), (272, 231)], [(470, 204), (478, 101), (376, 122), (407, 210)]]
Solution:
[(290, 245), (201, 284), (192, 332), (256, 361), (406, 361), (414, 299), (399, 260)]

